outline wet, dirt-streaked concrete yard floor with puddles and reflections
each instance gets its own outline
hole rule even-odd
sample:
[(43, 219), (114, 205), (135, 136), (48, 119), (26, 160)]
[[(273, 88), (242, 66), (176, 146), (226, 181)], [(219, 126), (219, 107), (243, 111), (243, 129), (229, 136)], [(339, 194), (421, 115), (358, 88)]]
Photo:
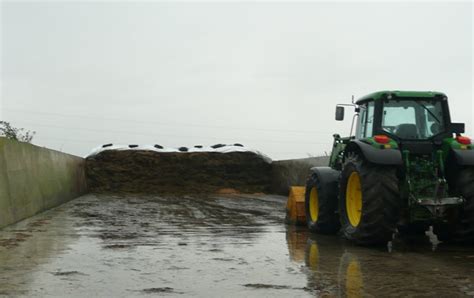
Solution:
[(0, 296), (474, 296), (473, 247), (357, 247), (285, 226), (285, 202), (83, 196), (0, 231)]

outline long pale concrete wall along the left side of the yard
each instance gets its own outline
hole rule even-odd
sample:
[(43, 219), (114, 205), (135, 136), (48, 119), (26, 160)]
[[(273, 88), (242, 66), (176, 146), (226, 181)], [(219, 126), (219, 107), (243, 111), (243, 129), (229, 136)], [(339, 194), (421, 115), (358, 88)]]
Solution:
[(0, 137), (0, 228), (86, 191), (84, 159)]

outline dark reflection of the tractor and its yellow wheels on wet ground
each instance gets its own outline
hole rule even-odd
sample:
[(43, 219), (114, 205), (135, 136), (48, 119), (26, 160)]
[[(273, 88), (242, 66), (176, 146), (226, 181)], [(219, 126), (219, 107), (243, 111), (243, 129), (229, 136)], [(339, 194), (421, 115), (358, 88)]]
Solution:
[(286, 239), (290, 259), (303, 265), (307, 287), (321, 296), (474, 296), (472, 248), (441, 246), (433, 252), (432, 237), (399, 236), (390, 250), (367, 248), (290, 226)]

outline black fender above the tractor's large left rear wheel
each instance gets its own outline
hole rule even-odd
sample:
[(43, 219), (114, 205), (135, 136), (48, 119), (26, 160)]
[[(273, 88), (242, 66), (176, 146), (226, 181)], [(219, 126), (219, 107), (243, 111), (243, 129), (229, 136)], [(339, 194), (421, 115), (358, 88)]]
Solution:
[(377, 149), (359, 140), (352, 140), (346, 147), (344, 155), (349, 152), (361, 154), (367, 161), (378, 165), (402, 165), (403, 159), (398, 149)]

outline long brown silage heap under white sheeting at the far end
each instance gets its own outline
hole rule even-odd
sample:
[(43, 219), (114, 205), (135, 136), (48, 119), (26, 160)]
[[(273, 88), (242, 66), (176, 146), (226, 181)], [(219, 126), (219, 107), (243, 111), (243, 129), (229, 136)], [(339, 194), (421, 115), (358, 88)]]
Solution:
[(271, 160), (230, 147), (188, 152), (139, 147), (99, 150), (86, 158), (88, 186), (93, 192), (209, 193), (226, 188), (268, 192)]

